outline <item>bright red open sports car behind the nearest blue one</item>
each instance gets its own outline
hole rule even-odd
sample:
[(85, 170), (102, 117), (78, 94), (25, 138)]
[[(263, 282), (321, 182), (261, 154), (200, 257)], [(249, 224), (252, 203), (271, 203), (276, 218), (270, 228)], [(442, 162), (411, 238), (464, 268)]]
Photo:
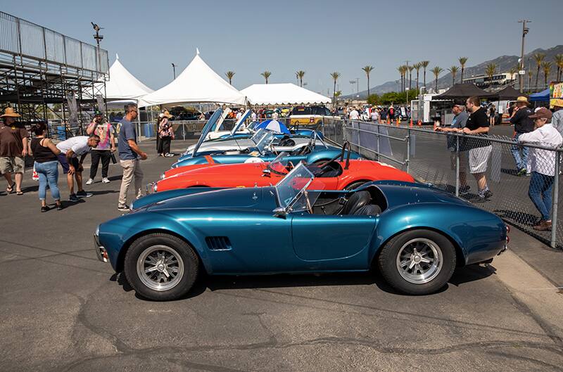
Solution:
[[(280, 154), (272, 162), (230, 165), (194, 165), (184, 172), (161, 179), (151, 186), (153, 192), (188, 187), (254, 187), (275, 185), (293, 168), (286, 155)], [(339, 159), (338, 159), (339, 158)], [(396, 180), (414, 182), (407, 172), (372, 160), (350, 160), (343, 156), (322, 165), (307, 165), (315, 174), (315, 182), (325, 190), (353, 189), (365, 182)]]

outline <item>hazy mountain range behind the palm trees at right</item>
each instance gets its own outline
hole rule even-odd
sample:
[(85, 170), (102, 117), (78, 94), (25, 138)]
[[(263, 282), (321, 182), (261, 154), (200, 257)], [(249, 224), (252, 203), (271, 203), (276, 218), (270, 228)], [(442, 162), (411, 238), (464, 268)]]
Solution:
[[(531, 68), (532, 72), (533, 72), (533, 77), (532, 77), (532, 86), (535, 84), (536, 82), (536, 71), (537, 71), (537, 67), (536, 67), (536, 60), (533, 59), (533, 54), (536, 53), (545, 53), (545, 60), (546, 61), (553, 61), (555, 60), (555, 55), (556, 54), (563, 54), (563, 45), (558, 45), (558, 46), (554, 46), (550, 49), (535, 49), (533, 51), (531, 51), (530, 53), (527, 53), (524, 55), (524, 68), (526, 70), (526, 72)], [(496, 71), (498, 73), (500, 72), (508, 72), (510, 70), (510, 68), (513, 68), (515, 66), (518, 65), (518, 58), (519, 56), (500, 56), (497, 57), (495, 59), (492, 60), (486, 60), (483, 63), (479, 63), (479, 65), (473, 65), (470, 67), (466, 67), (464, 72), (463, 72), (463, 76), (464, 78), (467, 77), (471, 77), (471, 76), (477, 76), (477, 75), (484, 75), (485, 74), (485, 68), (489, 63), (495, 63), (495, 65), (497, 66)], [(456, 58), (457, 60), (457, 58)], [(435, 82), (434, 82), (434, 74), (432, 74), (432, 72), (430, 71), (432, 68), (434, 68), (434, 65), (432, 64), (432, 61), (430, 61), (430, 65), (428, 66), (428, 68), (426, 68), (426, 87), (428, 89), (434, 89), (435, 87)], [(447, 71), (447, 68), (449, 68), (450, 66), (443, 66), (442, 68)], [(556, 73), (557, 73), (557, 66), (555, 65), (555, 62), (552, 63), (552, 68), (551, 68), (551, 72), (550, 75), (548, 75), (548, 82), (555, 80), (556, 79)], [(419, 75), (419, 79), (420, 79), (420, 83), (419, 85), (422, 86), (422, 68), (420, 69), (420, 75)], [(412, 70), (412, 88), (414, 89), (416, 86), (416, 77), (417, 77), (417, 72), (416, 70)], [(400, 75), (397, 72), (397, 79), (400, 79)], [(461, 79), (461, 68), (460, 71), (457, 72), (457, 74), (455, 75), (455, 82), (460, 82)], [(407, 86), (408, 86), (408, 74), (407, 74)], [(524, 84), (525, 86), (528, 85), (528, 75), (526, 73), (525, 77), (524, 77)], [(538, 85), (539, 86), (543, 86), (543, 70), (540, 69), (540, 76), (538, 79)], [(445, 75), (442, 75), (441, 77), (438, 78), (438, 89), (443, 89), (443, 88), (448, 88), (452, 86), (452, 74), (450, 72), (448, 72)], [(396, 80), (392, 80), (390, 82), (385, 82), (384, 84), (380, 84), (374, 87), (370, 87), (369, 88), (369, 93), (370, 94), (383, 94), (383, 93), (387, 93), (390, 91), (399, 91), (400, 90), (400, 83), (397, 83)], [(365, 99), (367, 98), (367, 90), (365, 91), (360, 91), (359, 93), (360, 95), (360, 99)], [(355, 94), (349, 94), (348, 96), (343, 96), (343, 98), (350, 98), (352, 96), (355, 96)]]

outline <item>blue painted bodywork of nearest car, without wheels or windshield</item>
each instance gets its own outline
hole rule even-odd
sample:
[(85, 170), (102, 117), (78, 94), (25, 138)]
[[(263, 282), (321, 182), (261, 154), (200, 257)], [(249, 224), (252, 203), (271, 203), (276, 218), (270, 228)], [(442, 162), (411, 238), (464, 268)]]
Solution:
[[(173, 233), (198, 252), (209, 274), (272, 274), (367, 271), (379, 249), (409, 229), (433, 229), (460, 249), (462, 264), (494, 257), (505, 245), (506, 227), (495, 214), (461, 199), (442, 200), (429, 186), (375, 181), (387, 209), (377, 217), (289, 213), (274, 217), (275, 188), (186, 189), (150, 195), (150, 203), (99, 226), (99, 240), (112, 267), (120, 270), (122, 248), (146, 232)], [(329, 191), (345, 195), (350, 191)], [(172, 198), (166, 198), (171, 196)], [(206, 236), (227, 236), (231, 247), (211, 250)]]

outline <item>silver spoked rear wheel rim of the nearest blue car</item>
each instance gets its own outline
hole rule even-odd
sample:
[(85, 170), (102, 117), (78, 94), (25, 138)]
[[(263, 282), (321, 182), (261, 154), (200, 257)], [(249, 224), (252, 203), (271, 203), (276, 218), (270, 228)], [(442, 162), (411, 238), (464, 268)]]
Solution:
[(415, 238), (407, 241), (397, 254), (397, 269), (400, 276), (413, 284), (428, 283), (442, 269), (442, 250), (434, 241)]

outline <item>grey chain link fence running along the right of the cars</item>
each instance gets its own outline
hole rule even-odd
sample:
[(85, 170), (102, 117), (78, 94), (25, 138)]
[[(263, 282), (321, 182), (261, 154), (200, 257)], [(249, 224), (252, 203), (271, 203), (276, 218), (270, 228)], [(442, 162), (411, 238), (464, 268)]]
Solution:
[[(323, 133), (336, 143), (349, 141), (364, 158), (403, 169), (418, 181), (498, 214), (554, 248), (563, 247), (558, 208), (563, 148), (519, 143), (505, 136), (446, 134), (331, 118), (324, 119)], [(545, 229), (547, 224), (543, 230), (534, 229), (545, 219), (551, 219), (550, 229)]]

